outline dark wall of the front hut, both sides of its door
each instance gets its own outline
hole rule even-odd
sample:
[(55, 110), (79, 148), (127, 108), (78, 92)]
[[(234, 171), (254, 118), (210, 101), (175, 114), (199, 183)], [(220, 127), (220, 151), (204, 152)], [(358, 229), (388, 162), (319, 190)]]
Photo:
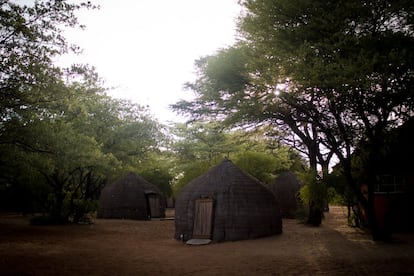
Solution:
[[(258, 195), (261, 201), (246, 198), (241, 190), (216, 195), (212, 240), (254, 239), (282, 232), (281, 215), (274, 196), (270, 193), (263, 195), (254, 190), (249, 192), (253, 196)], [(234, 197), (239, 200), (235, 200)], [(196, 199), (197, 195), (194, 195), (188, 201), (176, 202), (175, 238), (177, 240), (193, 238)]]

